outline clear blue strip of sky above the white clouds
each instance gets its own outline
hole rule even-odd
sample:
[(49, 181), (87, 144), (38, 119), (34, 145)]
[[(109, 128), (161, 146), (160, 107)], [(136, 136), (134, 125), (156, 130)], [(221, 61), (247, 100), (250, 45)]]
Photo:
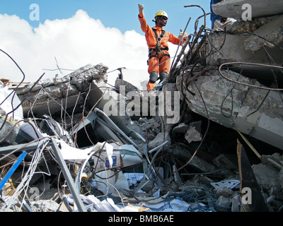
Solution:
[[(166, 25), (166, 30), (178, 35), (180, 28), (184, 29), (187, 20), (191, 17), (190, 25), (187, 28), (192, 32), (195, 19), (202, 15), (200, 8), (192, 7), (185, 8), (187, 5), (200, 5), (204, 8), (206, 13), (209, 13), (210, 0), (190, 0), (190, 1), (172, 1), (172, 0), (105, 0), (105, 1), (91, 1), (91, 0), (10, 0), (0, 2), (0, 13), (7, 13), (8, 15), (16, 14), (20, 18), (27, 20), (30, 25), (37, 27), (45, 20), (67, 19), (74, 16), (76, 11), (82, 9), (86, 11), (91, 18), (99, 19), (105, 27), (118, 28), (122, 33), (127, 30), (135, 30), (142, 34), (137, 20), (138, 4), (144, 4), (144, 13), (149, 25), (154, 25), (151, 20), (157, 11), (163, 10), (168, 13), (169, 20)], [(40, 20), (30, 20), (31, 4), (38, 4), (40, 6)], [(210, 23), (209, 17), (207, 23)], [(209, 27), (209, 26), (208, 26)]]

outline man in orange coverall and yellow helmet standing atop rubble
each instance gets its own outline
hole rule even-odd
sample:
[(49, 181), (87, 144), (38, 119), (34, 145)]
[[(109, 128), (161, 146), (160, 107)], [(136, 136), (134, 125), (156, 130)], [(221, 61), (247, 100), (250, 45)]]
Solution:
[[(145, 32), (146, 42), (149, 47), (149, 82), (147, 83), (147, 90), (153, 90), (156, 87), (156, 81), (158, 81), (158, 75), (160, 81), (167, 78), (171, 60), (168, 52), (168, 42), (173, 44), (179, 44), (183, 35), (180, 32), (180, 36), (176, 37), (171, 32), (165, 31), (163, 27), (166, 26), (168, 15), (165, 11), (158, 11), (153, 20), (156, 25), (154, 28), (150, 28), (144, 18), (144, 6), (139, 4), (139, 22), (141, 23), (141, 30)], [(183, 35), (185, 42), (187, 33)]]

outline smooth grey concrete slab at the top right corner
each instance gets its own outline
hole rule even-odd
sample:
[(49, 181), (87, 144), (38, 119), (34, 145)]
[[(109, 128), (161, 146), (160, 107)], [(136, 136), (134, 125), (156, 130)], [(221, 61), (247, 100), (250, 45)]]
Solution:
[(239, 19), (246, 11), (246, 7), (243, 7), (244, 4), (250, 4), (252, 18), (283, 13), (283, 2), (277, 0), (226, 0), (212, 5), (212, 10), (216, 15)]

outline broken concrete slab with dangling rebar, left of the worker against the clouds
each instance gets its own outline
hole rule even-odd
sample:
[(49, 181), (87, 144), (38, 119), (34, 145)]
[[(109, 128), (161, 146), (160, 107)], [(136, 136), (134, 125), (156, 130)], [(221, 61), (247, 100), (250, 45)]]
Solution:
[[(84, 104), (92, 81), (106, 84), (108, 68), (102, 64), (93, 66), (88, 64), (67, 76), (56, 76), (53, 79), (30, 83), (23, 88), (18, 88), (16, 93), (22, 103), (25, 117), (30, 111), (41, 116), (50, 112), (54, 114), (63, 109), (80, 107)], [(33, 88), (30, 92), (30, 88)]]

